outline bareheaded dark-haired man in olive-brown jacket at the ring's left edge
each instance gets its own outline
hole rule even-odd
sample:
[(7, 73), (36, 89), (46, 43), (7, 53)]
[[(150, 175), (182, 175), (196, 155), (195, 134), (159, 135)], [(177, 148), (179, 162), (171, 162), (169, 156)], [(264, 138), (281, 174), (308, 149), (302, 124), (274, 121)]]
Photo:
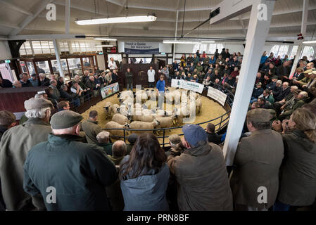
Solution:
[(88, 143), (95, 143), (97, 145), (98, 140), (96, 139), (96, 135), (98, 135), (102, 129), (96, 120), (98, 120), (98, 112), (92, 110), (89, 113), (89, 119), (82, 122), (82, 130), (86, 134)]

